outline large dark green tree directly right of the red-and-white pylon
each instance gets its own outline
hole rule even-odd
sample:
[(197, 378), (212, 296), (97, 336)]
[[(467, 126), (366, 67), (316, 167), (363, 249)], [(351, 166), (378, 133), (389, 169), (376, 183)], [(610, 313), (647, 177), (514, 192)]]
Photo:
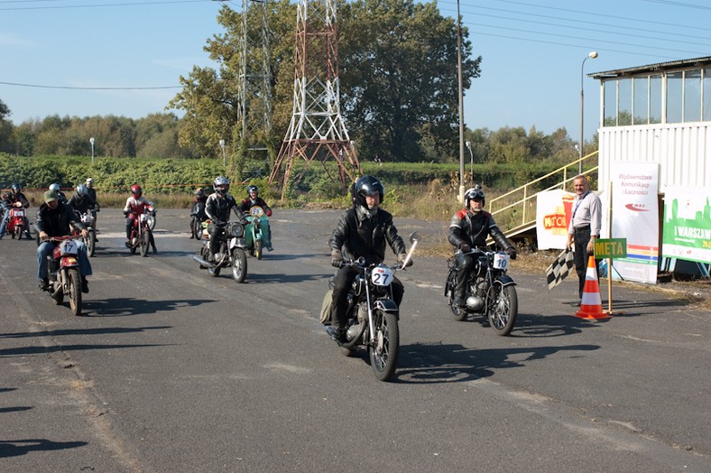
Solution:
[[(361, 155), (420, 161), (423, 139), (457, 149), (457, 23), (436, 3), (357, 0), (339, 5), (341, 104)], [(463, 87), (481, 57), (462, 29)]]

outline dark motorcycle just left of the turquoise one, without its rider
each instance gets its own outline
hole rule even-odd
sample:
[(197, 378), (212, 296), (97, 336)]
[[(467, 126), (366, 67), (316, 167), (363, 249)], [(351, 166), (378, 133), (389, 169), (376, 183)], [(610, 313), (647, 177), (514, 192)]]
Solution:
[[(202, 248), (200, 248), (200, 255), (193, 256), (200, 264), (200, 269), (208, 269), (208, 273), (217, 277), (220, 274), (222, 268), (227, 266), (232, 267), (232, 278), (237, 283), (244, 283), (247, 277), (247, 255), (246, 255), (246, 244), (245, 244), (245, 226), (240, 222), (226, 221), (222, 224), (217, 224), (210, 221), (209, 219), (205, 221), (207, 223), (208, 229), (204, 234), (204, 239), (202, 241)], [(210, 234), (214, 233), (212, 230), (214, 227), (219, 226), (224, 227), (225, 231), (222, 233), (220, 238), (219, 252), (215, 255), (215, 263), (208, 261), (210, 255)]]

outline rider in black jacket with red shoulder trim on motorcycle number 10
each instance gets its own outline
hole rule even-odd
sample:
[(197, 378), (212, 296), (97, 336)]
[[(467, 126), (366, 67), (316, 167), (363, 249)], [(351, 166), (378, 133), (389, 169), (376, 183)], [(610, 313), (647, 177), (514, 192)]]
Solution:
[(466, 282), (475, 266), (475, 258), (466, 253), (472, 248), (485, 249), (486, 238), (491, 235), (496, 245), (503, 248), (511, 259), (516, 259), (516, 249), (496, 225), (494, 217), (484, 209), (486, 198), (481, 186), (476, 184), (466, 190), (464, 198), (466, 209), (461, 209), (452, 216), (447, 235), (449, 243), (455, 247), (457, 287), (452, 301), (457, 307), (465, 306)]

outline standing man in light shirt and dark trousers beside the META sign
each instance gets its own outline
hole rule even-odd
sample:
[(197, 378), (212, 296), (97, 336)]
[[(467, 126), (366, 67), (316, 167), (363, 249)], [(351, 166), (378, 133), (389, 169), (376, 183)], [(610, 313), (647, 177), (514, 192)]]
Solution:
[[(595, 192), (587, 189), (586, 176), (580, 175), (573, 179), (573, 189), (576, 198), (573, 201), (573, 217), (568, 226), (568, 242), (566, 249), (575, 243), (575, 264), (579, 280), (577, 295), (579, 300), (573, 305), (579, 307), (585, 288), (587, 259), (595, 254), (595, 240), (600, 237), (600, 227), (603, 221), (603, 204)], [(596, 260), (596, 268), (599, 263)], [(598, 276), (599, 277), (599, 276)]]

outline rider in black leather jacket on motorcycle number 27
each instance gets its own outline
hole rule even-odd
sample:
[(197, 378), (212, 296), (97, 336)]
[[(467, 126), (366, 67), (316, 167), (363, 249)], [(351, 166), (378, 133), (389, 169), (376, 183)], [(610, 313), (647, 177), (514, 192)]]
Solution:
[[(405, 261), (407, 254), (402, 237), (392, 223), (392, 215), (380, 209), (385, 188), (374, 176), (366, 175), (351, 186), (351, 198), (355, 205), (341, 215), (336, 229), (328, 240), (331, 248), (331, 264), (340, 267), (344, 259), (355, 261), (365, 258), (365, 264), (379, 264), (385, 259), (385, 244), (397, 255), (399, 262)], [(408, 262), (408, 266), (412, 260)], [(331, 325), (326, 331), (331, 339), (343, 342), (346, 339), (347, 295), (357, 275), (356, 269), (344, 266), (334, 277), (333, 298), (331, 300)], [(400, 306), (402, 283), (396, 277), (392, 283), (392, 299)]]

